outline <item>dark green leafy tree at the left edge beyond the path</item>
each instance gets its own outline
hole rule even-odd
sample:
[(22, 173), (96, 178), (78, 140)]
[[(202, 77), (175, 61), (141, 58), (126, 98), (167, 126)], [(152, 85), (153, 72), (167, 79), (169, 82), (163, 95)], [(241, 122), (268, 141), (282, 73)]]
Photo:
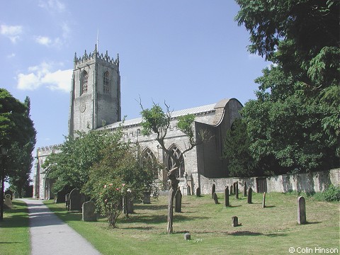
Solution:
[[(6, 90), (0, 89), (0, 147), (8, 150), (3, 156), (1, 169), (1, 191), (4, 191), (4, 181), (17, 181), (19, 196), (23, 189), (22, 183), (28, 182), (28, 175), (33, 163), (31, 153), (35, 146), (35, 128), (30, 119), (30, 100), (24, 103)], [(2, 218), (1, 192), (1, 218)]]

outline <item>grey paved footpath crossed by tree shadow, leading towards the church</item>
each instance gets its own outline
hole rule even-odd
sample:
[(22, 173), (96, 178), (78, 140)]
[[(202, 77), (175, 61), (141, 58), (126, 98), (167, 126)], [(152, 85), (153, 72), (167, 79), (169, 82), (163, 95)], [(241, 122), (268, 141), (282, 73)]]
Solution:
[(32, 255), (95, 255), (99, 251), (51, 212), (42, 200), (22, 199), (28, 205)]

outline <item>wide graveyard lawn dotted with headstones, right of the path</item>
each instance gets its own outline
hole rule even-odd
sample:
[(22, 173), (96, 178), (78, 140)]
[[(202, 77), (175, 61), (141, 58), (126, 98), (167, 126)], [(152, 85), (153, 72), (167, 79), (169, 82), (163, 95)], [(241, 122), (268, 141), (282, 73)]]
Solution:
[[(81, 213), (69, 213), (64, 203), (47, 201), (51, 210), (89, 240), (102, 254), (289, 254), (290, 247), (339, 249), (339, 203), (306, 197), (307, 224), (297, 225), (297, 194), (253, 193), (248, 204), (217, 193), (200, 198), (183, 196), (182, 212), (174, 212), (174, 234), (166, 234), (167, 196), (152, 199), (149, 205), (135, 203), (135, 213), (120, 216), (116, 229), (105, 218), (82, 222)], [(239, 227), (232, 227), (232, 216)], [(184, 234), (191, 233), (185, 241)], [(72, 245), (72, 244), (70, 244)]]

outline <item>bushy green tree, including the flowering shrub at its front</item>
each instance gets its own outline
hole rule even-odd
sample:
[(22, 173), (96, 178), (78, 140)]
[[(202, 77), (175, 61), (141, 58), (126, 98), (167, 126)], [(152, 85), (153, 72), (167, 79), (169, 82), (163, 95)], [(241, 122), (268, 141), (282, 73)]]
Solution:
[(83, 191), (95, 200), (96, 208), (108, 217), (109, 225), (115, 227), (123, 210), (122, 199), (126, 202), (140, 198), (152, 186), (154, 172), (140, 164), (137, 148), (128, 142), (116, 141), (102, 153), (103, 159), (91, 167)]

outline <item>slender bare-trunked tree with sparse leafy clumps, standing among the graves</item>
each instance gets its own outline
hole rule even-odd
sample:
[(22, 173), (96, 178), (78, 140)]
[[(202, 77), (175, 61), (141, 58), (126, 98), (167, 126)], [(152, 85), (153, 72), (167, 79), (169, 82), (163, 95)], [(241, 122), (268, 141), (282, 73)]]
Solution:
[(169, 185), (169, 199), (168, 199), (168, 220), (167, 220), (167, 228), (166, 232), (171, 234), (173, 232), (173, 219), (174, 219), (174, 197), (176, 191), (179, 186), (179, 180), (176, 178), (176, 171), (179, 171), (181, 166), (181, 159), (183, 159), (183, 154), (190, 151), (196, 145), (201, 142), (204, 142), (208, 139), (208, 134), (205, 132), (201, 132), (199, 137), (195, 136), (195, 132), (193, 130), (193, 122), (195, 120), (195, 116), (192, 114), (183, 115), (178, 118), (177, 127), (181, 130), (187, 137), (188, 143), (186, 145), (186, 149), (179, 154), (179, 157), (176, 157), (165, 145), (165, 139), (167, 135), (167, 131), (170, 126), (171, 121), (171, 112), (169, 111), (169, 106), (166, 106), (166, 111), (164, 112), (162, 107), (158, 104), (154, 103), (152, 108), (145, 109), (140, 102), (140, 106), (142, 108), (142, 135), (152, 135), (156, 134), (156, 140), (159, 145), (162, 147), (162, 150), (166, 155), (171, 157), (174, 162), (174, 166), (172, 169), (168, 170), (168, 185)]

